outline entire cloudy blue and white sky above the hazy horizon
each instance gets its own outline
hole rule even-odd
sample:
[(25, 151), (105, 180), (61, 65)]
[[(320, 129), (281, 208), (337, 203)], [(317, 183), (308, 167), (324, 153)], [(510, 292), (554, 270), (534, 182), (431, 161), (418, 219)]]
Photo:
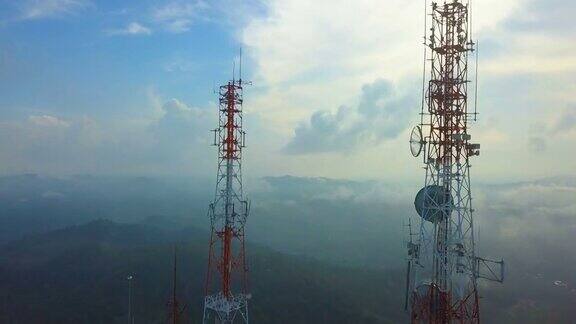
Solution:
[[(238, 49), (246, 174), (418, 180), (422, 0), (0, 1), (0, 173), (215, 173)], [(475, 0), (481, 180), (574, 174), (575, 5)]]

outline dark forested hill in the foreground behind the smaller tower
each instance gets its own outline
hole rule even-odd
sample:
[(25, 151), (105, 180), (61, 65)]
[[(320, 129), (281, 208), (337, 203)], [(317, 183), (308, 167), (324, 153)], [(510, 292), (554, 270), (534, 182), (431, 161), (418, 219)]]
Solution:
[[(0, 322), (124, 323), (134, 274), (137, 323), (163, 323), (179, 246), (178, 288), (188, 323), (201, 317), (207, 236), (193, 228), (98, 220), (0, 249)], [(394, 323), (402, 284), (391, 274), (339, 268), (250, 246), (255, 323)]]

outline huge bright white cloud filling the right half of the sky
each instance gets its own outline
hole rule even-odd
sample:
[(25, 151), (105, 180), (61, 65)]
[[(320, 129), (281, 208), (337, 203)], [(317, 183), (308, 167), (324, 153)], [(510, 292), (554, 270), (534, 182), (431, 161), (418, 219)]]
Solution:
[[(518, 17), (525, 16), (536, 2), (548, 8), (533, 13), (531, 21), (538, 24), (518, 26)], [(559, 2), (566, 3), (555, 0), (557, 6)], [(337, 129), (354, 123), (358, 116), (345, 112), (354, 110), (349, 107), (357, 105), (365, 84), (385, 78), (400, 92), (408, 93), (422, 76), (424, 1), (269, 0), (264, 4), (266, 14), (249, 20), (239, 37), (250, 57), (252, 79), (257, 85), (247, 92), (246, 110), (264, 125), (261, 127), (266, 128), (263, 132), (268, 134), (267, 139), (278, 139), (269, 140), (276, 147), (293, 143), (295, 130), (300, 134), (312, 130), (313, 120), (328, 122)], [(475, 171), (480, 176), (572, 172), (562, 161), (570, 160), (573, 153), (563, 153), (569, 154), (566, 159), (540, 154), (536, 161), (525, 144), (531, 135), (526, 125), (553, 118), (574, 90), (571, 74), (566, 74), (576, 69), (574, 58), (569, 56), (576, 50), (572, 49), (574, 35), (566, 28), (552, 32), (547, 27), (559, 13), (549, 7), (542, 0), (474, 1), (474, 38), (480, 43), (481, 123), (473, 125), (471, 131), (483, 145)], [(543, 22), (545, 26), (540, 25)], [(562, 83), (555, 81), (560, 80), (559, 73), (568, 75)], [(473, 88), (471, 96), (472, 92)], [(413, 94), (418, 97), (420, 93), (416, 90)], [(419, 105), (405, 109), (416, 123)], [(483, 123), (491, 117), (497, 117), (500, 124)], [(378, 130), (376, 123), (366, 127)], [(328, 154), (314, 158), (281, 155), (273, 163), (282, 172), (298, 175), (387, 176), (381, 175), (382, 167), (407, 168), (403, 154), (407, 152), (408, 135), (378, 147), (361, 148), (365, 142), (360, 141), (354, 157), (339, 156), (335, 160)], [(563, 141), (554, 145), (573, 145), (573, 138), (557, 136)], [(532, 146), (542, 148), (541, 143)], [(527, 160), (531, 163), (524, 163)], [(322, 163), (326, 167), (310, 168), (311, 164)], [(514, 167), (520, 163), (524, 163), (525, 170)], [(554, 168), (550, 168), (552, 165)]]

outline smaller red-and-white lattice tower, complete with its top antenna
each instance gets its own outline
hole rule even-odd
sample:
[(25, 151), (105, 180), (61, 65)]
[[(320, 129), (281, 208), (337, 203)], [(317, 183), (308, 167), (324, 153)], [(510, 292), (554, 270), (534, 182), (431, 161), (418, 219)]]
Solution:
[(214, 132), (218, 147), (216, 194), (210, 204), (210, 251), (203, 323), (248, 323), (247, 265), (244, 225), (249, 204), (242, 194), (242, 63), (240, 77), (219, 87), (219, 122)]

